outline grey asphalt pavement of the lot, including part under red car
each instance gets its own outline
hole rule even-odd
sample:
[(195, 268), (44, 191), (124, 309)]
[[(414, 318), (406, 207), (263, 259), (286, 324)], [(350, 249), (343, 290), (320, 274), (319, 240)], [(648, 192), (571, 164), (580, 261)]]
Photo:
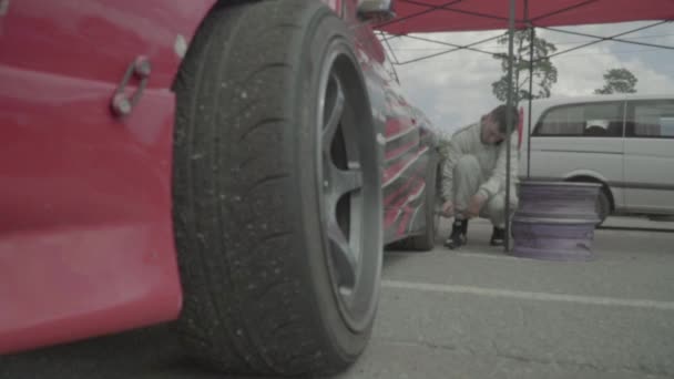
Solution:
[[(606, 226), (592, 262), (507, 256), (484, 222), (458, 252), (387, 252), (372, 340), (337, 378), (674, 378), (674, 223)], [(168, 324), (1, 357), (0, 378), (227, 377)]]

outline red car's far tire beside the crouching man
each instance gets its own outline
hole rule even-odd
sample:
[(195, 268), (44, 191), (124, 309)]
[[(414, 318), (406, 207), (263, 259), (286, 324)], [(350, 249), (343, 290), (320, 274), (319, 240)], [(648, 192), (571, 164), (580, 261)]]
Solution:
[(436, 193), (438, 190), (438, 158), (431, 154), (428, 158), (428, 168), (426, 174), (426, 198), (423, 207), (426, 213), (426, 227), (422, 234), (409, 236), (391, 245), (391, 248), (407, 252), (429, 252), (436, 247), (437, 225), (439, 216), (437, 215)]

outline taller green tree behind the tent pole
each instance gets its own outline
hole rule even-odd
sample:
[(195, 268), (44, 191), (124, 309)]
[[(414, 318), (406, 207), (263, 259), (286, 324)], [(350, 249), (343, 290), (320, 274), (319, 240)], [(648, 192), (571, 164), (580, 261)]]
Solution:
[[(508, 34), (498, 40), (499, 44), (508, 47)], [(518, 104), (521, 100), (550, 98), (552, 85), (556, 83), (556, 68), (547, 58), (556, 51), (556, 47), (542, 38), (533, 39), (533, 93), (529, 93), (529, 59), (531, 49), (531, 31), (517, 30), (513, 35), (513, 103)], [(498, 81), (491, 83), (491, 89), (500, 101), (508, 99), (508, 54), (494, 54), (494, 59), (501, 61), (503, 75)]]

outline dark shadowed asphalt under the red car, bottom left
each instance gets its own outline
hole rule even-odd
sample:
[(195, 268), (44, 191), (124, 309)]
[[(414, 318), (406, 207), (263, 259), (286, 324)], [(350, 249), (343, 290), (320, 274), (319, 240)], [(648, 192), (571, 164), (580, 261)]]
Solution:
[[(165, 324), (0, 357), (2, 379), (236, 379), (208, 371), (183, 351)], [(246, 377), (258, 378), (261, 377)]]

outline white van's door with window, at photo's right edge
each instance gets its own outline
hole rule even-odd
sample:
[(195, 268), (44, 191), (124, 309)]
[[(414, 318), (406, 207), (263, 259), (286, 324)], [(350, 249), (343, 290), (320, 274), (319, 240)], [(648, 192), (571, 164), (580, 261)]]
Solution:
[(623, 187), (630, 211), (674, 213), (674, 99), (629, 102)]

